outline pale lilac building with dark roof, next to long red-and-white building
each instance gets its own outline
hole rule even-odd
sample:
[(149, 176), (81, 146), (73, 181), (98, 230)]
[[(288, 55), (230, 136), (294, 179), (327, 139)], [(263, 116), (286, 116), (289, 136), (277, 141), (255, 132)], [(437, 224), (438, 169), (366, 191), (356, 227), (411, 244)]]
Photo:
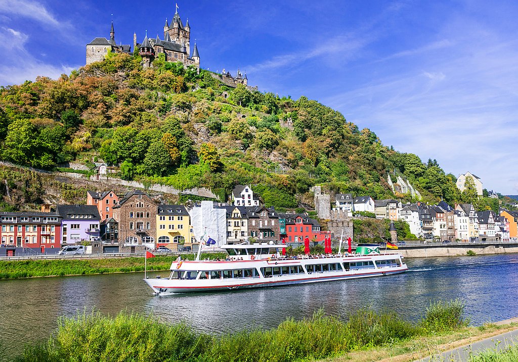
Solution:
[(95, 247), (94, 244), (99, 244), (100, 215), (97, 206), (57, 205), (56, 213), (62, 218), (63, 245), (91, 243)]

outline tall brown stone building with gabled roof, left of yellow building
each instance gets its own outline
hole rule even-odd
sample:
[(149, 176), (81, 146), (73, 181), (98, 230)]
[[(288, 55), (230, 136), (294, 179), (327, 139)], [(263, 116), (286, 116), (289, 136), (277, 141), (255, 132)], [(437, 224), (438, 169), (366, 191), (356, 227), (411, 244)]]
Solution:
[(119, 223), (121, 252), (140, 252), (155, 247), (156, 203), (143, 191), (128, 193), (113, 206), (113, 219)]

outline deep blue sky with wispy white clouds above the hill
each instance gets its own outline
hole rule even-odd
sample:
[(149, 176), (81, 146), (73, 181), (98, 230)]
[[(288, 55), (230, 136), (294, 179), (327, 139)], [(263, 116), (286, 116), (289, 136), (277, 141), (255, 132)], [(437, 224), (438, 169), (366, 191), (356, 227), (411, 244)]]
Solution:
[[(340, 111), (382, 143), (470, 171), (518, 194), (518, 3), (472, 1), (181, 1), (202, 68)], [(163, 39), (163, 0), (0, 0), (0, 85), (57, 78), (85, 45)], [(191, 45), (192, 49), (192, 45)]]

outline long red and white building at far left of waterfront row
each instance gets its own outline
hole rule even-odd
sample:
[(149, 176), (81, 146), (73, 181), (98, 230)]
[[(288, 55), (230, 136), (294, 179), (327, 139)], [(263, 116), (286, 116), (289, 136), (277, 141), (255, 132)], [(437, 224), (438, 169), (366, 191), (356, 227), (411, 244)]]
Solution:
[[(2, 247), (30, 248), (37, 252), (61, 248), (61, 216), (56, 213), (1, 213)], [(9, 255), (8, 255), (9, 256)]]

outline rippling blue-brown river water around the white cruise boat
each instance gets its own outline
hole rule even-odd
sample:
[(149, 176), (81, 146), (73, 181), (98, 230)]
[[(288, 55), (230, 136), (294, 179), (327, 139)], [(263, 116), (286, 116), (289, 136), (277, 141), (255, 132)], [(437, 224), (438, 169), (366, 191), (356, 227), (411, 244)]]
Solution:
[(370, 306), (416, 320), (430, 301), (454, 298), (465, 302), (474, 325), (518, 316), (518, 254), (406, 263), (410, 270), (393, 276), (170, 296), (153, 296), (143, 273), (4, 280), (0, 343), (8, 355), (18, 354), (24, 343), (47, 339), (59, 316), (93, 308), (109, 314), (124, 309), (153, 313), (171, 323), (188, 320), (212, 333), (275, 327), (286, 317), (301, 319), (321, 307), (340, 318)]

